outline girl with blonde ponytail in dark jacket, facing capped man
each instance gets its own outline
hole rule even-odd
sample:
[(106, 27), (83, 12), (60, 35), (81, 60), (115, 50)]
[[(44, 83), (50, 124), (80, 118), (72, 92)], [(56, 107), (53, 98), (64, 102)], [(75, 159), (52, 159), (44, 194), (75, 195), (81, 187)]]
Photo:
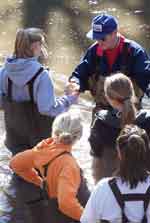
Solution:
[(122, 73), (106, 77), (104, 92), (114, 110), (97, 112), (91, 128), (89, 141), (95, 182), (102, 177), (111, 176), (117, 169), (115, 141), (125, 124), (137, 124), (150, 136), (150, 111), (137, 111), (136, 97), (129, 77)]

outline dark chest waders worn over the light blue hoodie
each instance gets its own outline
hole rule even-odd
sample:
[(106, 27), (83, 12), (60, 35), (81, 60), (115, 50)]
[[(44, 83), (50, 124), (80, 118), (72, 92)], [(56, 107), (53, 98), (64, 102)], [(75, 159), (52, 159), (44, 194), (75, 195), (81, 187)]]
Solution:
[(39, 141), (51, 135), (54, 118), (40, 114), (33, 97), (34, 81), (43, 70), (44, 68), (41, 67), (27, 82), (30, 101), (12, 100), (13, 82), (8, 78), (8, 93), (3, 95), (2, 100), (6, 128), (5, 145), (13, 154), (32, 148)]

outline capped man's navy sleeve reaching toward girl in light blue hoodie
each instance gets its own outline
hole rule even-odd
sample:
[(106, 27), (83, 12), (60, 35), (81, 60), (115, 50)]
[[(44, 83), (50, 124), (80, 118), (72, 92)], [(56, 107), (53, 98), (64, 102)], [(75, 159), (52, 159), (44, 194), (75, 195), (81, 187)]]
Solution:
[(84, 57), (81, 59), (80, 64), (75, 68), (71, 77), (69, 79), (74, 79), (80, 85), (80, 91), (89, 90), (88, 79), (94, 70), (94, 55), (95, 55), (96, 45), (90, 47)]

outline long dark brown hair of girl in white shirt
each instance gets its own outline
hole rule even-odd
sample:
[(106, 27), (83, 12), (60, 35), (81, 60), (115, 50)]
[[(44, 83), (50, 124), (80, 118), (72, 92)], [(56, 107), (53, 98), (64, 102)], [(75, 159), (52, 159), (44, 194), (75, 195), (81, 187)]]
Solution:
[(126, 125), (117, 138), (117, 150), (120, 154), (118, 175), (131, 188), (146, 180), (149, 175), (150, 146), (144, 129), (136, 125)]

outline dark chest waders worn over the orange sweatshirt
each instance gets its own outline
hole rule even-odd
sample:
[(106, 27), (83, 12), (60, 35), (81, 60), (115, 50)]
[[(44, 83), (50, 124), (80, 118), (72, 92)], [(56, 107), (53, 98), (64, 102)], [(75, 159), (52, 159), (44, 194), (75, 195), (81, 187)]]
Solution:
[[(63, 214), (58, 207), (58, 202), (56, 198), (49, 198), (47, 193), (47, 170), (51, 163), (60, 156), (69, 155), (69, 152), (60, 153), (58, 156), (54, 157), (50, 162), (43, 166), (44, 174), (43, 177), (43, 189), (41, 190), (41, 199), (28, 202), (31, 215), (33, 218), (33, 223), (79, 223), (65, 214)], [(77, 193), (77, 199), (80, 204), (85, 207), (90, 196), (90, 192), (87, 188), (86, 180), (84, 179), (81, 171), (81, 183)]]

